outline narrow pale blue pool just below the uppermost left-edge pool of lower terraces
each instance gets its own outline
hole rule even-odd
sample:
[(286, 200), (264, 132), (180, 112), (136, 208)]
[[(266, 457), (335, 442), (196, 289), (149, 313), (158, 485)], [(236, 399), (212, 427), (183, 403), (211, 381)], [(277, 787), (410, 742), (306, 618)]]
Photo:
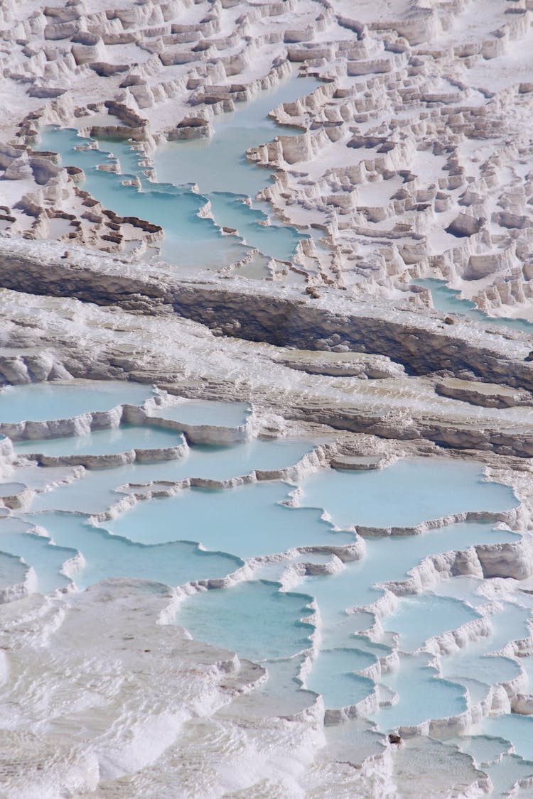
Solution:
[(88, 435), (61, 439), (21, 441), (14, 444), (17, 455), (38, 452), (40, 455), (113, 455), (131, 449), (177, 447), (184, 443), (181, 433), (165, 427), (124, 424), (111, 430), (96, 430)]

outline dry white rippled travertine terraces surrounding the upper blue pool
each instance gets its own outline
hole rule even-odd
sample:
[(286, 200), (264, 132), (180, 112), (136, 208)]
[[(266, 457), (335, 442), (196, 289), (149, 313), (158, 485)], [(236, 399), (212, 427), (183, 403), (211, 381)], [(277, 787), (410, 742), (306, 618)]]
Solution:
[(124, 221), (35, 149), (42, 125), (131, 138), (149, 164), (157, 143), (209, 136), (296, 66), (320, 85), (272, 116), (300, 135), (281, 129), (247, 157), (277, 170), (272, 214), (324, 233), (324, 249), (296, 256), (308, 283), (424, 308), (409, 280), (444, 276), (495, 315), (527, 316), (528, 4), (351, 6), (6, 4), (2, 227), (54, 238), (51, 221), (67, 220), (64, 238), (120, 252)]

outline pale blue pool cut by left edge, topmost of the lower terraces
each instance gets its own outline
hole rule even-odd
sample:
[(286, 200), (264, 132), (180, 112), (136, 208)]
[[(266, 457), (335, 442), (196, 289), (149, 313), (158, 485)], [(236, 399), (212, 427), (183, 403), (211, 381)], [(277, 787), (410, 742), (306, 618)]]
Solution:
[(70, 419), (117, 405), (138, 405), (153, 395), (150, 386), (113, 380), (73, 380), (6, 386), (0, 391), (0, 421)]

